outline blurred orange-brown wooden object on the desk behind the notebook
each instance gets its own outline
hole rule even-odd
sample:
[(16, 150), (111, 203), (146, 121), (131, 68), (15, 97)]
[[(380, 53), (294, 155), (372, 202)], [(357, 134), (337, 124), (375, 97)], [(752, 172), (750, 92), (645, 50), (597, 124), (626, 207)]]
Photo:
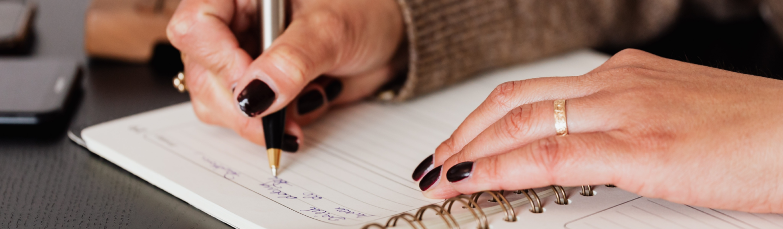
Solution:
[(147, 62), (155, 45), (168, 43), (166, 26), (179, 1), (93, 0), (85, 17), (87, 54)]

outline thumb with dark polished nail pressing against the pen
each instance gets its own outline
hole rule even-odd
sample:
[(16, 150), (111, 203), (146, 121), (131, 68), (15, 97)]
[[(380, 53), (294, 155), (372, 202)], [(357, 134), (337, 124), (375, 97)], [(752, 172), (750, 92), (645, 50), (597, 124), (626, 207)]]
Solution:
[[(285, 107), (310, 81), (334, 68), (340, 28), (324, 20), (294, 20), (236, 82), (235, 98), (247, 116), (265, 116)], [(327, 20), (328, 21), (328, 20)]]

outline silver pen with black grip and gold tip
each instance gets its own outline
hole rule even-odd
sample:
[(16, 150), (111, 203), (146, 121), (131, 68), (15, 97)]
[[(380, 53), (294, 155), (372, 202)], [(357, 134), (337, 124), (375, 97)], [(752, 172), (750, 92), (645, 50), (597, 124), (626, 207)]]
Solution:
[[(266, 51), (272, 45), (286, 27), (286, 0), (261, 0), (258, 10), (261, 15), (261, 47)], [(286, 109), (280, 109), (276, 113), (262, 118), (264, 125), (264, 141), (266, 142), (266, 154), (269, 157), (269, 168), (272, 176), (277, 177), (280, 169), (280, 152), (283, 147), (283, 132), (286, 128)]]

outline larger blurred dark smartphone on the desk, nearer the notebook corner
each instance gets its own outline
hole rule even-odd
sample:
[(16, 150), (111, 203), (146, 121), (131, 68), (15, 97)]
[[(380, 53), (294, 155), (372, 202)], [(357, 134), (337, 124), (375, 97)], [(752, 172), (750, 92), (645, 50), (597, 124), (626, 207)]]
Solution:
[(63, 120), (81, 73), (67, 59), (0, 59), (0, 125), (36, 126)]

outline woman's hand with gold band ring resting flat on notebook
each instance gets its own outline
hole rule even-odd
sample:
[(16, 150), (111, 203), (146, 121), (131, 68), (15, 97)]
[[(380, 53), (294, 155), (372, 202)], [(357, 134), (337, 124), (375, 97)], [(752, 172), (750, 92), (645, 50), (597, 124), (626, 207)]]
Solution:
[[(555, 136), (556, 99), (567, 136)], [(615, 184), (783, 213), (783, 81), (625, 50), (583, 76), (501, 84), (427, 161), (413, 177), (434, 199)]]

